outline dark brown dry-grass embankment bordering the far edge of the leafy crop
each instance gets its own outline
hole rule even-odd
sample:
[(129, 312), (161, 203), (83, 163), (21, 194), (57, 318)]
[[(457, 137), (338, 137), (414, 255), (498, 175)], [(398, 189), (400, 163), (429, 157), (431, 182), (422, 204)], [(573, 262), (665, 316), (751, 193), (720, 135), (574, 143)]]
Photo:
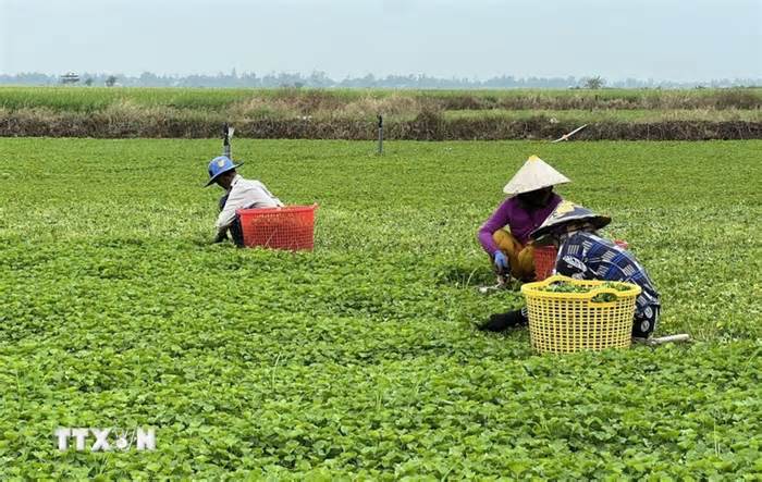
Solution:
[[(0, 113), (0, 136), (36, 137), (218, 137), (222, 118), (136, 115), (114, 116), (105, 112), (14, 111)], [(378, 131), (367, 119), (259, 119), (233, 122), (236, 136), (282, 139), (372, 140)], [(411, 120), (388, 121), (386, 139), (406, 140), (496, 140), (553, 139), (583, 124), (583, 121), (555, 121), (544, 115), (524, 120), (501, 118), (444, 119), (435, 112), (421, 112)], [(592, 122), (578, 140), (708, 140), (760, 139), (762, 122), (669, 120)]]

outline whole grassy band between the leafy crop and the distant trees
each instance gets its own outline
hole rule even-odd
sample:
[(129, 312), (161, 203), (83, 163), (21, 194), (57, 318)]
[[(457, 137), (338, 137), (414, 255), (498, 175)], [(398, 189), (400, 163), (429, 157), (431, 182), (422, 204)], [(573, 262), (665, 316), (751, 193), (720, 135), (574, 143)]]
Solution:
[[(640, 112), (636, 112), (640, 111)], [(762, 138), (762, 90), (354, 91), (275, 89), (0, 91), (0, 136), (704, 140)], [(557, 118), (557, 119), (556, 119)]]

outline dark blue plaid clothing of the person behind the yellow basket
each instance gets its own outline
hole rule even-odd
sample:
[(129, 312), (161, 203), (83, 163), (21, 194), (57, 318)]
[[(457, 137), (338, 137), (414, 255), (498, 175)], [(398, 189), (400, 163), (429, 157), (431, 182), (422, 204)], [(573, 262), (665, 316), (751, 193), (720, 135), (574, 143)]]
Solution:
[(632, 336), (648, 337), (659, 321), (659, 293), (648, 273), (631, 252), (609, 239), (578, 231), (558, 250), (558, 274), (578, 280), (620, 281), (642, 288), (636, 299)]

